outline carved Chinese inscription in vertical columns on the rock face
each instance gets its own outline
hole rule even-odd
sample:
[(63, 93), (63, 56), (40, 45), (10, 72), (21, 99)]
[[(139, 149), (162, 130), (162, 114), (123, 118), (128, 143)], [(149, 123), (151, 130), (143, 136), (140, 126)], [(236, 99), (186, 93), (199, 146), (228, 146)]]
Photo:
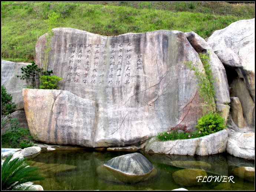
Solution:
[(143, 73), (142, 54), (131, 42), (69, 44), (66, 83), (128, 86), (132, 75)]

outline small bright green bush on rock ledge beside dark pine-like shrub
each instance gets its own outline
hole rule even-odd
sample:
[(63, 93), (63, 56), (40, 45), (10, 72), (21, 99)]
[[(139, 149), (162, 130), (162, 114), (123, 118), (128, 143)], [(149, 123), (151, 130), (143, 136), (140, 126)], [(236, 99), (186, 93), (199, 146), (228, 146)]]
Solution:
[(40, 89), (58, 89), (57, 84), (60, 80), (62, 80), (62, 78), (56, 75), (53, 75), (53, 76), (43, 75), (43, 76), (40, 76), (40, 80), (41, 80)]

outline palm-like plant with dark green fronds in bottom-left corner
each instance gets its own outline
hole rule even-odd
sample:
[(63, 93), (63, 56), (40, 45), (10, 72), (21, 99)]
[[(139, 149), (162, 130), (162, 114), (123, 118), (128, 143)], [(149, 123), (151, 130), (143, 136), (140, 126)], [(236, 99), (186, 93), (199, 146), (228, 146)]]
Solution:
[(25, 163), (24, 158), (11, 158), (13, 154), (6, 157), (1, 165), (2, 190), (36, 190), (32, 186), (23, 186), (22, 184), (29, 181), (45, 179), (36, 171), (37, 167), (30, 167)]

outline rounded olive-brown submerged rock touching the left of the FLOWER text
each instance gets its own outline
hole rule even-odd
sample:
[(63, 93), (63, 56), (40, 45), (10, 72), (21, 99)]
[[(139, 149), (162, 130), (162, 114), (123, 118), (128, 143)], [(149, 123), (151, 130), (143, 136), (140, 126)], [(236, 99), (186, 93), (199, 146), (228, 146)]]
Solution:
[(202, 182), (198, 182), (197, 176), (207, 176), (207, 173), (201, 169), (181, 169), (173, 173), (174, 181), (181, 186), (197, 186)]

